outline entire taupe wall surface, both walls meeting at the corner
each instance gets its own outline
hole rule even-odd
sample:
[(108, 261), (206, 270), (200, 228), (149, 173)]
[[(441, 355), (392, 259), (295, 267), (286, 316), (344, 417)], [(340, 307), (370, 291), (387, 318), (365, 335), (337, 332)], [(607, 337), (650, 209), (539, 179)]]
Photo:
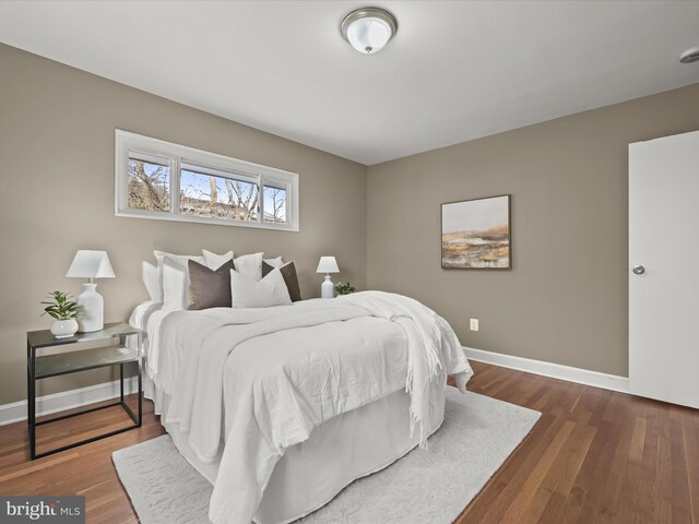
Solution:
[[(423, 300), (464, 345), (625, 376), (627, 145), (699, 129), (697, 84), (367, 169), (8, 46), (0, 64), (0, 405), (25, 396), (25, 332), (50, 325), (38, 302), (80, 293), (64, 274), (81, 248), (109, 252), (110, 321), (146, 298), (153, 249), (283, 254), (307, 297), (318, 257), (335, 254), (340, 279)], [(299, 172), (301, 231), (115, 217), (115, 128)], [(514, 269), (441, 270), (439, 204), (502, 193)]]

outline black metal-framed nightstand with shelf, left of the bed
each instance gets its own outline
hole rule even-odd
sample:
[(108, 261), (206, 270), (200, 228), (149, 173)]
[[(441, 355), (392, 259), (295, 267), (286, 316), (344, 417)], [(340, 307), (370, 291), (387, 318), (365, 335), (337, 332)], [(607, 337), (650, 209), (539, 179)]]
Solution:
[[(127, 336), (137, 338), (135, 348), (127, 347)], [(32, 460), (42, 456), (52, 455), (60, 451), (70, 450), (78, 445), (94, 442), (95, 440), (105, 439), (112, 434), (121, 433), (133, 428), (140, 428), (143, 414), (143, 388), (141, 378), (141, 330), (133, 327), (127, 323), (114, 322), (105, 324), (104, 330), (92, 333), (76, 333), (67, 338), (56, 338), (50, 331), (29, 331), (26, 334), (26, 378), (27, 378), (27, 424), (29, 429), (29, 454)], [(84, 348), (81, 346), (90, 343), (98, 347)], [(66, 347), (67, 350), (52, 353), (50, 355), (37, 355), (39, 349)], [(71, 413), (49, 420), (36, 421), (36, 381), (48, 379), (49, 377), (58, 377), (61, 374), (76, 373), (88, 369), (119, 366), (119, 384), (120, 398), (117, 402), (109, 403), (104, 406), (84, 409), (78, 413)], [(123, 401), (123, 368), (125, 366), (134, 366), (139, 382), (139, 415), (138, 417)], [(107, 433), (91, 437), (88, 439), (62, 445), (54, 450), (36, 453), (36, 427), (46, 424), (56, 422), (66, 418), (93, 413), (108, 407), (121, 406), (123, 410), (133, 420), (132, 426), (127, 426)]]

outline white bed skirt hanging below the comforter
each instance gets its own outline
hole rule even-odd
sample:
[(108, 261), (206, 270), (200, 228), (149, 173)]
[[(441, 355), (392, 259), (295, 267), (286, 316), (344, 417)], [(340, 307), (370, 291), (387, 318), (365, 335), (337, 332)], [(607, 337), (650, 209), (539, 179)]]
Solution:
[[(146, 396), (153, 398), (155, 413), (167, 415), (168, 395), (145, 378)], [(446, 378), (436, 381), (428, 433), (445, 418)], [(357, 409), (339, 415), (318, 428), (310, 438), (289, 448), (274, 468), (262, 502), (254, 516), (257, 524), (285, 524), (327, 504), (357, 478), (383, 469), (418, 443), (410, 434), (410, 395), (403, 390)], [(203, 464), (192, 452), (187, 433), (177, 425), (164, 425), (173, 442), (187, 461), (214, 484), (220, 457)]]

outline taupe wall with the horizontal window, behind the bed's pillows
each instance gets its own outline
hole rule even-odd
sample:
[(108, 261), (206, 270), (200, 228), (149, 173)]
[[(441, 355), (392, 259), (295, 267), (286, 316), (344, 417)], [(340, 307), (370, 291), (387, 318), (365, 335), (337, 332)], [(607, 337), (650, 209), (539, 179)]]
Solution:
[[(305, 297), (318, 296), (321, 254), (366, 285), (366, 167), (116, 82), (0, 45), (0, 405), (25, 397), (25, 332), (48, 329), (39, 301), (66, 278), (78, 249), (104, 249), (117, 278), (98, 281), (105, 319), (147, 298), (141, 261), (153, 249), (263, 250), (295, 260)], [(115, 128), (299, 174), (300, 233), (114, 216)], [(43, 394), (110, 380), (50, 379)]]

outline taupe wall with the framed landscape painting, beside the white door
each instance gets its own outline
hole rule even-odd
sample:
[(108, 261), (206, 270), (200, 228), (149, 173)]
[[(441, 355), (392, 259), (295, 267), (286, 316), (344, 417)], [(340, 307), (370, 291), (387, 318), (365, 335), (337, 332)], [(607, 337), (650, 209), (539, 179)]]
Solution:
[[(466, 346), (627, 376), (627, 146), (699, 129), (697, 100), (699, 84), (370, 166), (369, 287)], [(440, 204), (503, 193), (513, 270), (442, 270)]]

